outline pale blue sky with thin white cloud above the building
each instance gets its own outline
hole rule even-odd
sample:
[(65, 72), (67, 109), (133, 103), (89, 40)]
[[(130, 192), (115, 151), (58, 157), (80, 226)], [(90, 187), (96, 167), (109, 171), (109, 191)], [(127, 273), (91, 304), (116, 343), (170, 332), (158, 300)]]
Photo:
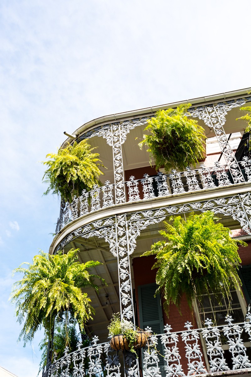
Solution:
[(17, 343), (12, 270), (49, 251), (59, 200), (44, 167), (99, 116), (251, 87), (251, 2), (0, 1), (0, 366), (34, 377)]

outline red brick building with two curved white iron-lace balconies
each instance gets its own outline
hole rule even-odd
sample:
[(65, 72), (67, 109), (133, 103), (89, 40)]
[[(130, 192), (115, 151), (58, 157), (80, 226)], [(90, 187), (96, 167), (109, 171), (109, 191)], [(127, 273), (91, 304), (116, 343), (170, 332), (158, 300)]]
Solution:
[[(79, 248), (79, 260), (102, 262), (95, 273), (106, 280), (99, 294), (87, 290), (96, 315), (87, 325), (92, 345), (55, 360), (44, 375), (177, 376), (234, 374), (251, 371), (247, 307), (251, 299), (251, 159), (246, 124), (236, 121), (241, 106), (250, 106), (250, 89), (196, 98), (95, 119), (79, 127), (65, 143), (89, 139), (98, 147), (106, 169), (103, 186), (83, 192), (71, 204), (62, 203), (50, 253)], [(159, 109), (191, 103), (190, 116), (207, 136), (206, 156), (195, 169), (170, 174), (156, 172), (146, 149), (140, 150), (146, 120)], [(244, 136), (243, 136), (244, 134)], [(64, 147), (63, 144), (62, 147)], [(140, 257), (160, 239), (163, 221), (172, 215), (212, 210), (248, 242), (240, 248), (243, 297), (232, 292), (232, 312), (205, 297), (191, 313), (186, 300), (182, 316), (175, 307), (166, 317), (161, 299), (154, 298), (154, 257)], [(224, 301), (224, 302), (223, 302)], [(116, 352), (107, 342), (113, 313), (156, 334), (136, 358)], [(168, 324), (167, 324), (168, 323)], [(236, 325), (234, 323), (239, 323)], [(184, 327), (185, 326), (185, 327)], [(88, 359), (88, 365), (84, 360)]]

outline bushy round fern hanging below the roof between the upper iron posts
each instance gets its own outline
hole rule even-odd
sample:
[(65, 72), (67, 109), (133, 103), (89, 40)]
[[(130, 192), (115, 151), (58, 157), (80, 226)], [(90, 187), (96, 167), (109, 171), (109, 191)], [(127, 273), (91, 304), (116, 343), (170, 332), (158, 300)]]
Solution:
[(138, 144), (148, 147), (150, 163), (152, 158), (156, 169), (164, 167), (166, 172), (171, 169), (185, 170), (187, 166), (199, 162), (205, 153), (204, 129), (194, 119), (187, 118), (187, 110), (191, 106), (181, 104), (176, 109), (159, 110), (156, 116), (148, 120), (145, 131)]

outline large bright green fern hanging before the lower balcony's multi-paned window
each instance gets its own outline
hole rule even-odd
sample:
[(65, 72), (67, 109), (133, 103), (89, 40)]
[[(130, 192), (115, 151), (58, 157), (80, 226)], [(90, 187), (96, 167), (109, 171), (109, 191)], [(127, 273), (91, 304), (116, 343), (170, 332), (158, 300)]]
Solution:
[(230, 237), (229, 229), (211, 211), (200, 215), (192, 213), (187, 219), (176, 216), (165, 222), (166, 230), (159, 233), (164, 240), (156, 242), (143, 256), (156, 254), (153, 268), (158, 268), (156, 282), (164, 298), (164, 310), (174, 303), (181, 314), (181, 298), (186, 296), (190, 309), (195, 298), (215, 293), (218, 302), (222, 296), (231, 298), (231, 289), (241, 291), (237, 270), (240, 265), (238, 244), (243, 241)]

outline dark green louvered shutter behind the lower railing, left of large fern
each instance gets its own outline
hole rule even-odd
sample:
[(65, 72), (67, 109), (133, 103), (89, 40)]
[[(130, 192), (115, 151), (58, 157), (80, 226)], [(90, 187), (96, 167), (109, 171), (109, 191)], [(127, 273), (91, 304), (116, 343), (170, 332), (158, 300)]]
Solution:
[[(164, 323), (160, 297), (154, 297), (156, 289), (156, 284), (146, 284), (138, 287), (140, 327), (144, 330), (149, 326), (155, 334), (163, 334)], [(160, 338), (158, 338), (157, 350), (163, 355), (163, 346), (160, 342)], [(159, 365), (164, 365), (163, 357), (159, 356), (159, 359)]]

